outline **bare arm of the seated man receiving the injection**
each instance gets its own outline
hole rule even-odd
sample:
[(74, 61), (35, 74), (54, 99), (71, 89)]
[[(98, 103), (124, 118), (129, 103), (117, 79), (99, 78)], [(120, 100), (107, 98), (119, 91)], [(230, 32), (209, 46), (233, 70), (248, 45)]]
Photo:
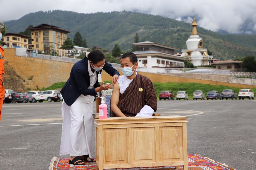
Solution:
[(113, 86), (113, 92), (112, 92), (112, 98), (111, 98), (111, 110), (118, 117), (126, 117), (118, 107), (119, 97), (120, 97), (120, 87), (119, 87), (118, 81), (116, 81), (115, 85)]

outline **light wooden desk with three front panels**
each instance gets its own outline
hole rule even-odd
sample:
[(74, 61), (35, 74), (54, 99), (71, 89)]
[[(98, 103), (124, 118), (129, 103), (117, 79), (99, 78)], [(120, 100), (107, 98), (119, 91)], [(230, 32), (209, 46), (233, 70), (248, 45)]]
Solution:
[(96, 170), (171, 165), (188, 170), (187, 118), (95, 119)]

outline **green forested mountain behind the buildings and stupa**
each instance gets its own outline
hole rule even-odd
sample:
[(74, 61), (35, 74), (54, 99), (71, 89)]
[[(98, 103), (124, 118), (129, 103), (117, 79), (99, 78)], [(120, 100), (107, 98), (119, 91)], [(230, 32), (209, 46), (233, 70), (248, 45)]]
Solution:
[[(127, 11), (95, 14), (39, 11), (18, 20), (7, 21), (5, 25), (7, 32), (19, 33), (30, 24), (37, 26), (49, 22), (71, 31), (68, 34), (71, 39), (79, 31), (86, 38), (89, 47), (99, 46), (112, 50), (118, 43), (123, 51), (132, 49), (133, 37), (138, 33), (141, 41), (178, 47), (180, 50), (176, 52), (180, 52), (186, 48), (186, 41), (192, 30), (191, 23)], [(204, 39), (204, 48), (212, 51), (215, 58), (227, 60), (256, 54), (256, 35), (220, 34), (200, 27), (197, 30)]]

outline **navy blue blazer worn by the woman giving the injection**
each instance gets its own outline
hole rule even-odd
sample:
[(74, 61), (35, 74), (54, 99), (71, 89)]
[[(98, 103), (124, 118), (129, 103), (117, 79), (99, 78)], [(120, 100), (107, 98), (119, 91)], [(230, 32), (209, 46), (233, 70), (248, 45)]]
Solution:
[[(90, 86), (91, 80), (91, 76), (89, 76), (88, 71), (88, 62), (89, 59), (84, 57), (82, 60), (74, 64), (71, 69), (68, 81), (60, 91), (65, 103), (68, 106), (71, 106), (81, 94), (84, 96), (96, 96), (95, 88), (100, 87), (100, 83), (97, 80), (97, 82), (94, 84), (94, 88), (88, 88)], [(114, 76), (115, 74), (118, 76), (120, 75), (119, 72), (114, 69), (108, 62), (105, 62), (103, 70), (105, 70), (111, 76)], [(102, 70), (100, 73), (101, 72)], [(97, 75), (98, 74), (99, 72), (97, 71)]]

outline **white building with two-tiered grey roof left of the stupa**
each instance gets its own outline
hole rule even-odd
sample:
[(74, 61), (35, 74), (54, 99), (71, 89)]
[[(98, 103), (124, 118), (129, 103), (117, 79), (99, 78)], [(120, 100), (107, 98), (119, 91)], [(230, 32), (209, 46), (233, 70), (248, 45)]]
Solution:
[(133, 51), (138, 57), (138, 67), (141, 68), (183, 68), (187, 57), (174, 55), (174, 50), (179, 48), (157, 44), (150, 41), (133, 43), (137, 51)]

